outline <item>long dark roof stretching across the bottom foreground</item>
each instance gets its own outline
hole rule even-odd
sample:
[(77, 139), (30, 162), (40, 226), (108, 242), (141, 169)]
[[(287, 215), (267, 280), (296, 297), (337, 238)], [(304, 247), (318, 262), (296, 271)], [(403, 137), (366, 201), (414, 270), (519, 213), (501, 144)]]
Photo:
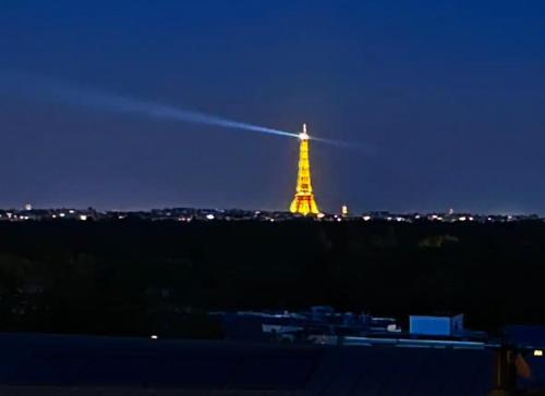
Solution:
[(487, 395), (494, 351), (0, 335), (1, 395)]

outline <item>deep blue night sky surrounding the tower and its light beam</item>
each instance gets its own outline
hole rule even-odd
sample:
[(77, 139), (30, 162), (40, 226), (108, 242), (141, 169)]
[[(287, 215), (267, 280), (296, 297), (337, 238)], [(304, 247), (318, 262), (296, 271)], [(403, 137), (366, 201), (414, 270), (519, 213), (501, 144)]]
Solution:
[[(543, 1), (0, 1), (0, 73), (314, 144), (322, 209), (545, 213)], [(286, 209), (298, 141), (0, 89), (0, 206)]]

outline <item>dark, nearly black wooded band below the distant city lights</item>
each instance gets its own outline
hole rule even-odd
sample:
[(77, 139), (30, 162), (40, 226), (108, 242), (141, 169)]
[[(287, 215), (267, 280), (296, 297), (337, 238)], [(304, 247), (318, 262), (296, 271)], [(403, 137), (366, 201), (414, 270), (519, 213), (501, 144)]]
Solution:
[(219, 336), (206, 312), (332, 305), (544, 323), (545, 224), (0, 223), (0, 331)]

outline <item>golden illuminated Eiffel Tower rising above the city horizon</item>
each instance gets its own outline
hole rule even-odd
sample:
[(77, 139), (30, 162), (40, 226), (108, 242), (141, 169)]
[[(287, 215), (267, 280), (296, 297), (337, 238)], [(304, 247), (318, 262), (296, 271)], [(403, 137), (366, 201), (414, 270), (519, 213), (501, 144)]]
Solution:
[(314, 200), (314, 193), (311, 184), (311, 160), (308, 158), (308, 140), (306, 124), (303, 124), (303, 132), (299, 134), (301, 144), (299, 146), (299, 173), (295, 197), (290, 206), (290, 212), (306, 215), (319, 213), (318, 206)]

